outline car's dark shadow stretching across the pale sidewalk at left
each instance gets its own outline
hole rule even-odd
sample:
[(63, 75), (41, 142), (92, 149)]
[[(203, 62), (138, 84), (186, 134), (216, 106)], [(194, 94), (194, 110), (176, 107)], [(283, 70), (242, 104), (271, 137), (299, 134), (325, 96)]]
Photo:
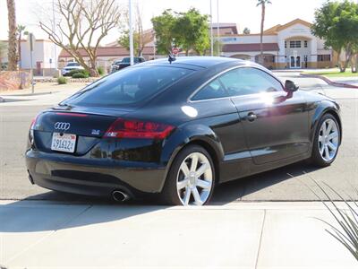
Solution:
[(85, 203), (83, 197), (81, 201), (64, 203), (64, 197), (57, 201), (44, 201), (38, 200), (36, 196), (0, 205), (0, 235), (57, 231), (113, 221), (121, 225), (122, 221), (132, 221), (133, 217), (148, 213), (154, 215), (157, 211), (169, 208), (149, 203), (143, 206), (138, 202), (117, 204), (93, 197), (88, 198), (89, 203)]

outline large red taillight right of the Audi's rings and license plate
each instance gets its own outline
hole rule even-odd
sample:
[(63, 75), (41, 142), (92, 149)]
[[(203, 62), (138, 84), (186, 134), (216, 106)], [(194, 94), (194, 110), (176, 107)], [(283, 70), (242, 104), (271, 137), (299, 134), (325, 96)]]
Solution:
[(105, 137), (164, 139), (174, 126), (148, 121), (118, 118), (105, 133)]

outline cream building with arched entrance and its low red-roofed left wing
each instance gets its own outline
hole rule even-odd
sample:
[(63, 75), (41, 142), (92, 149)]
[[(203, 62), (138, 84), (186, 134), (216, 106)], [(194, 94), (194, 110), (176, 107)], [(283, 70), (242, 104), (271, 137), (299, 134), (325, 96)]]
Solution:
[[(260, 34), (224, 35), (222, 56), (258, 62)], [(332, 49), (313, 36), (311, 23), (296, 19), (264, 31), (264, 65), (269, 68), (322, 68), (337, 64)]]

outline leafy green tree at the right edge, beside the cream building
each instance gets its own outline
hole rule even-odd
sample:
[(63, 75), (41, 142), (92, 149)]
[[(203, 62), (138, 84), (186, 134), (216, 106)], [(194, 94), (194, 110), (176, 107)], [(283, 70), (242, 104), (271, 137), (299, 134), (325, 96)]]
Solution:
[(357, 29), (358, 4), (351, 1), (328, 1), (315, 12), (311, 31), (320, 39), (325, 39), (327, 48), (337, 52), (340, 72), (345, 72), (354, 54), (358, 53)]

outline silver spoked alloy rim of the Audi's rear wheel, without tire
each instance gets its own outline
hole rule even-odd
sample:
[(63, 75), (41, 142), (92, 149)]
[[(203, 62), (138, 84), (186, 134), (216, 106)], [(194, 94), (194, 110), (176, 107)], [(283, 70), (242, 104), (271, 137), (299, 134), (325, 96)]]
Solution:
[(176, 190), (183, 205), (202, 205), (213, 185), (209, 159), (200, 152), (192, 152), (182, 162), (176, 177)]

